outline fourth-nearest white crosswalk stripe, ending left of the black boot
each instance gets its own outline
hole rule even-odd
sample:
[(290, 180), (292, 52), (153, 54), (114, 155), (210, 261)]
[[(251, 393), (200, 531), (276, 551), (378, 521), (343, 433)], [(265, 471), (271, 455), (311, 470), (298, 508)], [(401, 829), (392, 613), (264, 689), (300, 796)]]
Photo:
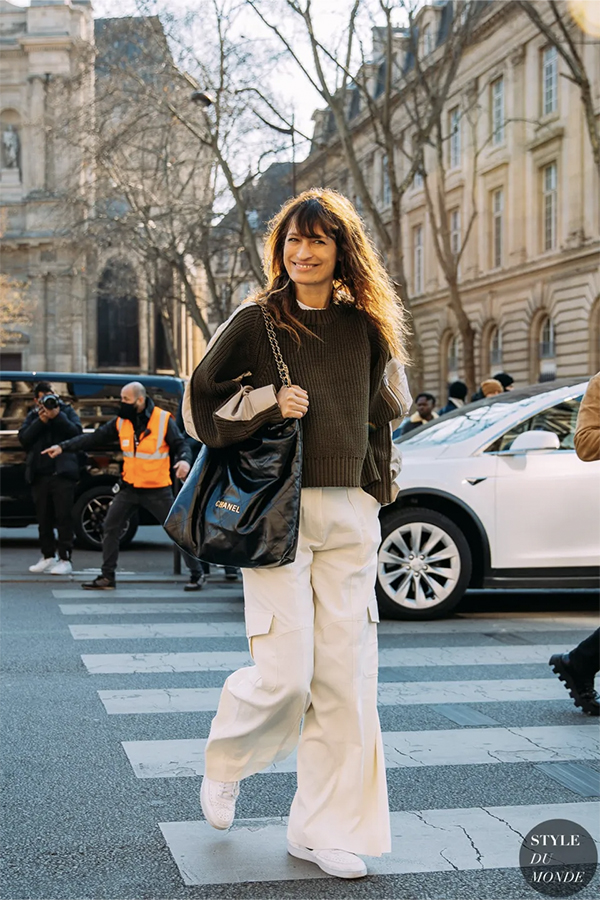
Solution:
[[(547, 663), (556, 652), (554, 644), (531, 646), (402, 647), (379, 651), (379, 665), (404, 666), (497, 666)], [(84, 653), (81, 659), (90, 674), (128, 672), (233, 671), (249, 666), (248, 652), (199, 653)]]

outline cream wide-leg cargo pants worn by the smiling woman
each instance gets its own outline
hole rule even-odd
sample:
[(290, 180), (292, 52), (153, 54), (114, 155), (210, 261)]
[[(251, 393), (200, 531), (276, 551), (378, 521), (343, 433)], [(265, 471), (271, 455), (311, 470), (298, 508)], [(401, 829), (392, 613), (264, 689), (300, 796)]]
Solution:
[(378, 511), (361, 488), (303, 488), (295, 562), (243, 571), (254, 666), (227, 678), (206, 746), (206, 775), (239, 781), (298, 745), (289, 839), (365, 856), (391, 850), (377, 714)]

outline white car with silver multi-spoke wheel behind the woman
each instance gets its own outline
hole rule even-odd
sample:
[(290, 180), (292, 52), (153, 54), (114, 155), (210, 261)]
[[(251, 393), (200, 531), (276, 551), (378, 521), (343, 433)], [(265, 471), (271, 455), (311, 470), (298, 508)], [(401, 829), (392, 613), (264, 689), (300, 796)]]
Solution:
[(600, 461), (573, 447), (586, 387), (510, 391), (398, 439), (401, 492), (381, 511), (384, 615), (446, 615), (468, 587), (600, 585)]

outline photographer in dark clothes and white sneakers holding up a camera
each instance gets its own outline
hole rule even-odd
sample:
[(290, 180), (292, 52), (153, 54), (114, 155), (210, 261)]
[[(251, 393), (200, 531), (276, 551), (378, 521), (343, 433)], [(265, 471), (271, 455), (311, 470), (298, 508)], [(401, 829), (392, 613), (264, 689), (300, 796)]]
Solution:
[(31, 485), (42, 551), (41, 558), (29, 566), (29, 571), (68, 575), (72, 571), (72, 515), (79, 463), (76, 453), (64, 453), (52, 459), (43, 451), (77, 437), (83, 428), (73, 407), (63, 403), (50, 382), (36, 384), (33, 396), (35, 407), (19, 430), (19, 441), (27, 451), (25, 480)]

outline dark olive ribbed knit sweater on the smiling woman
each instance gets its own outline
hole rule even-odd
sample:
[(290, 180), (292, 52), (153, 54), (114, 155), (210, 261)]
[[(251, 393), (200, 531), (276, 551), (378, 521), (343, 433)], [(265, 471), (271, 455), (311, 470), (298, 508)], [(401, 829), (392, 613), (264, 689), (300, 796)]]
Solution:
[[(323, 310), (298, 308), (298, 319), (315, 337), (301, 334), (298, 346), (277, 330), (292, 384), (308, 393), (303, 425), (303, 487), (363, 487), (389, 502), (389, 422), (398, 405), (384, 384), (389, 353), (368, 317), (349, 304)], [(198, 437), (209, 447), (244, 440), (265, 422), (280, 422), (277, 403), (246, 421), (215, 412), (240, 384), (261, 388), (281, 380), (264, 319), (256, 304), (232, 318), (192, 376), (191, 407)]]

